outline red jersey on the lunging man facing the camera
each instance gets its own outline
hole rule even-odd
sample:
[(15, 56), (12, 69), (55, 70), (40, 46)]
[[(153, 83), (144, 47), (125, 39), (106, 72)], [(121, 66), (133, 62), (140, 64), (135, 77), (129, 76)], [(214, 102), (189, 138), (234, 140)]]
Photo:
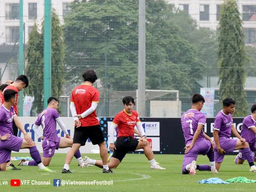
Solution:
[(134, 137), (134, 127), (137, 122), (140, 122), (140, 117), (135, 110), (131, 115), (127, 114), (125, 110), (118, 113), (113, 119), (113, 123), (118, 126), (117, 137)]

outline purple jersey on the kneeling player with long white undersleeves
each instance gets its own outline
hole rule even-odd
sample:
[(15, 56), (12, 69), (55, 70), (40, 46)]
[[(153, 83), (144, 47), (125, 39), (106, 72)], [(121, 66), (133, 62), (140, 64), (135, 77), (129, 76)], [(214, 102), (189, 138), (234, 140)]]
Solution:
[(44, 139), (49, 141), (58, 141), (56, 119), (60, 118), (58, 111), (53, 108), (46, 108), (38, 115), (35, 125), (42, 125)]

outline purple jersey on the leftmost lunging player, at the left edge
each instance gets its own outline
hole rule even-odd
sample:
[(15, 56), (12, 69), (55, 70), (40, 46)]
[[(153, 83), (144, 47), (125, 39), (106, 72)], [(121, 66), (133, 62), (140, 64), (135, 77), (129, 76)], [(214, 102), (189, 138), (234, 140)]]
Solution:
[(0, 134), (1, 136), (7, 133), (13, 135), (12, 122), (15, 116), (13, 107), (10, 110), (6, 109), (4, 106), (0, 107)]

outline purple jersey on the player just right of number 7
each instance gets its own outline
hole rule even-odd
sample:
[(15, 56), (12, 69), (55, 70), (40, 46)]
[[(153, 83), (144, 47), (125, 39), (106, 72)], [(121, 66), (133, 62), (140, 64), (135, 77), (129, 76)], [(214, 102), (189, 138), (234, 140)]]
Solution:
[(221, 110), (214, 119), (214, 130), (219, 131), (219, 137), (230, 138), (233, 118), (231, 114), (226, 115)]

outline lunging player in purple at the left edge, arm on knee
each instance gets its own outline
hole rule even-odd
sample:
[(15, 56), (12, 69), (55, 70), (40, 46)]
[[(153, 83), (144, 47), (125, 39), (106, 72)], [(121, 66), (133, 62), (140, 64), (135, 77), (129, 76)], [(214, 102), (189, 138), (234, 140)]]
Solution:
[[(11, 158), (12, 150), (18, 152), (20, 149), (29, 149), (31, 157), (39, 167), (39, 171), (53, 172), (43, 165), (35, 142), (28, 136), (28, 133), (14, 112), (13, 105), (15, 105), (17, 93), (14, 90), (5, 90), (4, 103), (0, 107), (0, 169), (1, 171), (6, 170), (6, 162)], [(24, 134), (24, 139), (13, 135), (13, 121)]]

